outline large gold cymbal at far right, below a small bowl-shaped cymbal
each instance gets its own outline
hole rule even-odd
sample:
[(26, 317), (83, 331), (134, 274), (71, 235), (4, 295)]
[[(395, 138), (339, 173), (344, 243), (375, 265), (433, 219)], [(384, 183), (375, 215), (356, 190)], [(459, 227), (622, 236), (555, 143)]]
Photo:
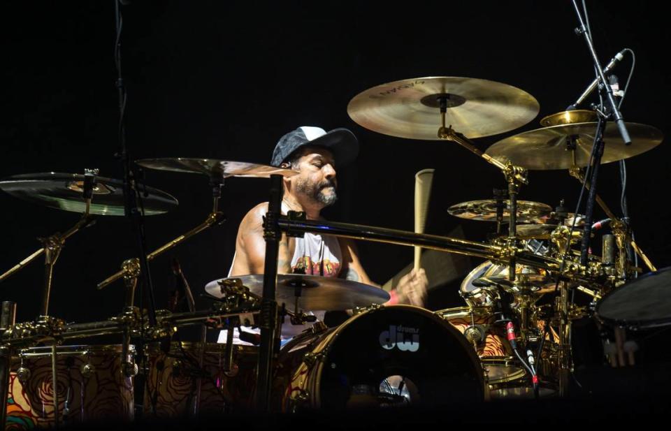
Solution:
[[(568, 169), (573, 166), (573, 152), (568, 146), (571, 145), (570, 138), (575, 137), (575, 164), (584, 167), (589, 162), (596, 124), (563, 124), (519, 133), (498, 141), (485, 153), (499, 161), (511, 161), (531, 170)], [(662, 142), (662, 132), (653, 126), (638, 123), (626, 123), (626, 126), (631, 145), (624, 145), (615, 123), (606, 124), (601, 163), (628, 159)]]

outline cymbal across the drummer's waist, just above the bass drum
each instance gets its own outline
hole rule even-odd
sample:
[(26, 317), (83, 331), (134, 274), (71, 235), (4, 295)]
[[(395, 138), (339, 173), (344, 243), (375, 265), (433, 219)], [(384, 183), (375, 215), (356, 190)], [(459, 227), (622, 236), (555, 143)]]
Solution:
[[(243, 286), (250, 288), (255, 295), (263, 295), (264, 275), (239, 275), (229, 279), (240, 279)], [(217, 279), (205, 285), (205, 291), (217, 298), (222, 297), (222, 291)], [(317, 275), (278, 274), (277, 293), (275, 298), (280, 304), (284, 302), (287, 308), (293, 309), (296, 300), (295, 287), (301, 286), (301, 296), (298, 307), (303, 310), (334, 311), (368, 307), (372, 304), (382, 304), (389, 300), (389, 293), (368, 284), (335, 277), (319, 277)]]

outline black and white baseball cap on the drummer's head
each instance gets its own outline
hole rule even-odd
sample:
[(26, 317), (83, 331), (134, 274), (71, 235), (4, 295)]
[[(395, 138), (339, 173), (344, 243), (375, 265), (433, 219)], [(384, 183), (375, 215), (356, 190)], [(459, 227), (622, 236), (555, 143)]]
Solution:
[(287, 161), (291, 153), (304, 145), (329, 149), (338, 166), (351, 163), (359, 154), (359, 141), (356, 140), (354, 133), (347, 129), (333, 129), (326, 132), (321, 127), (301, 126), (277, 141), (270, 165), (280, 166), (283, 161)]

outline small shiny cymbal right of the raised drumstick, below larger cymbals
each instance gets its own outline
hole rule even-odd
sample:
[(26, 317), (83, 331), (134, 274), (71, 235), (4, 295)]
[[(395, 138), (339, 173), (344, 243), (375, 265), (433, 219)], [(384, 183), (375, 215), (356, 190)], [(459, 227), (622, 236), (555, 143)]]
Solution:
[[(507, 223), (510, 217), (510, 201), (504, 200), (503, 221)], [(547, 217), (552, 208), (540, 202), (531, 200), (517, 201), (517, 221), (520, 223), (542, 224), (543, 218)], [(496, 221), (496, 200), (469, 200), (457, 203), (447, 208), (447, 212), (454, 217), (479, 221)]]

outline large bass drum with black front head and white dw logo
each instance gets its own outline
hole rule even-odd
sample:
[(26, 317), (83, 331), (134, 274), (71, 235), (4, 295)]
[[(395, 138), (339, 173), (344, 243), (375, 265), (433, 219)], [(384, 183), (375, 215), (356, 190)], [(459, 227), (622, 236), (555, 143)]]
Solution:
[(281, 411), (440, 405), (486, 398), (482, 367), (447, 321), (411, 305), (375, 307), (282, 347), (273, 383)]

